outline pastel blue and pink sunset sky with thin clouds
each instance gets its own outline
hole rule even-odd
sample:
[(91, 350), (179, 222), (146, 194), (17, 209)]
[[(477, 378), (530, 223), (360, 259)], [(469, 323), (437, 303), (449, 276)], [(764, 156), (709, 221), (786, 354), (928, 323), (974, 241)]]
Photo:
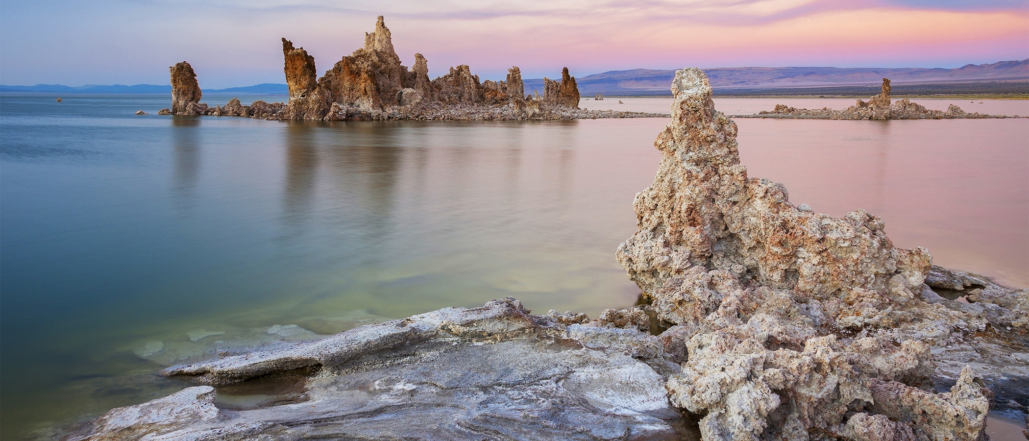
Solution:
[(385, 15), (400, 60), (483, 79), (743, 66), (943, 67), (1029, 59), (1029, 0), (0, 0), (0, 83), (284, 83), (281, 37), (319, 72)]

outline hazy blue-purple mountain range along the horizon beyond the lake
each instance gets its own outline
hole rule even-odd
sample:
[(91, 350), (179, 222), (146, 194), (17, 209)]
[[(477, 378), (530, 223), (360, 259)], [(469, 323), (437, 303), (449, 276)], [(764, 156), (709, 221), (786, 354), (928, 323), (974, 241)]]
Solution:
[[(946, 90), (957, 90), (954, 84), (983, 82), (1015, 82), (1005, 86), (1029, 93), (1029, 59), (1022, 61), (997, 62), (985, 65), (966, 65), (957, 69), (927, 68), (827, 68), (827, 67), (786, 67), (786, 68), (716, 68), (705, 69), (716, 94), (733, 95), (754, 90), (775, 93), (796, 93), (804, 89), (861, 90), (867, 86), (878, 86), (883, 78), (889, 78), (894, 85), (941, 84)], [(633, 69), (609, 71), (586, 75), (576, 79), (579, 93), (583, 97), (595, 94), (610, 96), (645, 96), (669, 94), (669, 84), (675, 76), (674, 70)], [(560, 77), (556, 75), (556, 77)], [(543, 91), (542, 78), (524, 80), (526, 94)], [(974, 87), (972, 87), (974, 88)], [(997, 89), (996, 87), (991, 90)], [(171, 94), (171, 85), (82, 85), (70, 87), (61, 84), (0, 85), (0, 91), (31, 91), (56, 94)], [(205, 94), (261, 94), (285, 95), (286, 84), (262, 83), (246, 87), (205, 89)], [(955, 91), (956, 93), (956, 91)]]

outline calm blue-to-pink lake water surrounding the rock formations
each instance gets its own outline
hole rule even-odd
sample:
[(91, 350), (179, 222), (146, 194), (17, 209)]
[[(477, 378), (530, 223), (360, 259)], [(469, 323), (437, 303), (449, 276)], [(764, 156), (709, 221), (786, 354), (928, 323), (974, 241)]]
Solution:
[[(4, 439), (177, 391), (154, 375), (173, 361), (311, 335), (285, 325), (334, 333), (505, 296), (596, 317), (639, 295), (614, 250), (663, 118), (283, 122), (55, 98), (0, 96)], [(582, 105), (600, 103), (617, 101)], [(730, 114), (778, 103), (796, 106), (716, 100)], [(866, 209), (899, 247), (1029, 286), (1029, 120), (737, 123), (750, 176), (792, 201)]]

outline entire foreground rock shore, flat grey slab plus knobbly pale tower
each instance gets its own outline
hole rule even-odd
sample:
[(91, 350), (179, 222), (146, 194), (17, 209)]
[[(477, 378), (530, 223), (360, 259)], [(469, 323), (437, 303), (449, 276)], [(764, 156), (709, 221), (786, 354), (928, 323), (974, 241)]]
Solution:
[(1022, 411), (1029, 290), (894, 248), (863, 210), (794, 206), (747, 176), (701, 70), (672, 91), (616, 251), (643, 304), (505, 298), (172, 366), (197, 385), (65, 439), (972, 441), (991, 407)]

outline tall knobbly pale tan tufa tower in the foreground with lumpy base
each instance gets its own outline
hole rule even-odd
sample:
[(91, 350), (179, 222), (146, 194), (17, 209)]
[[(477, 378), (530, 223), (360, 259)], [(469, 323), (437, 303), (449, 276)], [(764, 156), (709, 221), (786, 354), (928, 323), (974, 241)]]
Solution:
[(983, 439), (985, 372), (962, 366), (934, 394), (933, 348), (1024, 335), (1026, 292), (982, 289), (974, 311), (924, 300), (925, 249), (894, 248), (862, 210), (800, 210), (781, 184), (748, 178), (701, 70), (678, 71), (672, 91), (658, 176), (617, 258), (674, 325), (662, 341), (682, 372), (666, 385), (704, 439)]

